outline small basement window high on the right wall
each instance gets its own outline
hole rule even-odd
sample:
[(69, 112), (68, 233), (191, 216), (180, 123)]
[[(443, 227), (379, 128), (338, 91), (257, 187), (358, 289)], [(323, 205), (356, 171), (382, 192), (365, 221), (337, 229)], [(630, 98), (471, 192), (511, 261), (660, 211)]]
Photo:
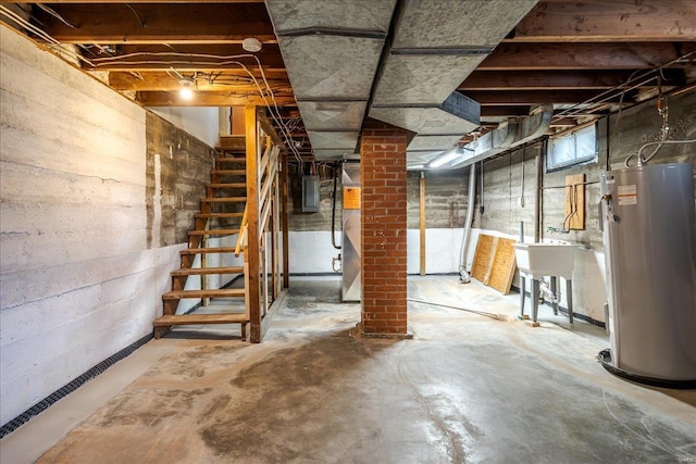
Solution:
[(597, 162), (596, 124), (552, 137), (546, 151), (546, 172), (566, 170), (577, 164)]

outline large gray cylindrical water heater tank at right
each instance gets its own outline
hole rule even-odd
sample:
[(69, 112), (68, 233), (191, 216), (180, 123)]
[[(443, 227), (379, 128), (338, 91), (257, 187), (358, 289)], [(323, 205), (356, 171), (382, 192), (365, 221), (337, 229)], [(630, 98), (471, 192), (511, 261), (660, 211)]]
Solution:
[(691, 163), (601, 175), (611, 351), (632, 380), (696, 386), (696, 213)]

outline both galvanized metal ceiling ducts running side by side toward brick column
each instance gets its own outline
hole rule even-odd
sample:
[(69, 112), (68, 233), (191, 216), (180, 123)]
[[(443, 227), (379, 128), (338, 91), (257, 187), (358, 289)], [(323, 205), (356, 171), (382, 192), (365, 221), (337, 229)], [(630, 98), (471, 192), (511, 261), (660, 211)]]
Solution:
[(315, 156), (353, 153), (371, 101), (370, 117), (417, 134), (407, 149), (413, 165), (478, 127), (478, 103), (455, 90), (537, 1), (265, 4)]

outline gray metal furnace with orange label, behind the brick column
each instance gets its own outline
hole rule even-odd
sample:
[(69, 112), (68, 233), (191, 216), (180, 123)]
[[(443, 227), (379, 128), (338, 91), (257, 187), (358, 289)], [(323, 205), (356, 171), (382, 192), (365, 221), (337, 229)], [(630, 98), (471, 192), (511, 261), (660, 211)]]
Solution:
[(343, 301), (360, 301), (360, 162), (346, 161), (343, 164)]

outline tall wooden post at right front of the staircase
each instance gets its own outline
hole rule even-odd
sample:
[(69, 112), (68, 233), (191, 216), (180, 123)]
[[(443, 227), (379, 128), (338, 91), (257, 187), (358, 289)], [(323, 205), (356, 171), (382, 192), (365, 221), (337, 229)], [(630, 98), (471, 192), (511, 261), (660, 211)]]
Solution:
[(249, 340), (261, 341), (261, 309), (259, 305), (259, 151), (257, 129), (257, 108), (245, 108), (245, 138), (247, 147), (247, 250), (249, 263)]

